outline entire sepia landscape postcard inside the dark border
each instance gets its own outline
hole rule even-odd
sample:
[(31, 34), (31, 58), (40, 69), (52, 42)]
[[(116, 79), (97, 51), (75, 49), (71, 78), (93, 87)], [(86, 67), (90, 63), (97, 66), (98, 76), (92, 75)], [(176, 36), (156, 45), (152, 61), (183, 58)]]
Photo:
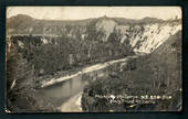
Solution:
[(6, 112), (181, 111), (180, 7), (7, 7)]

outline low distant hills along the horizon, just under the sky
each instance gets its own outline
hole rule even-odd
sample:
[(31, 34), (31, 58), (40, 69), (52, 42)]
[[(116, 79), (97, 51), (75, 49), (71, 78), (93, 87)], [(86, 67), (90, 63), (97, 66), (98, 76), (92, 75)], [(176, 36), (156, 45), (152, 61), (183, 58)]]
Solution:
[[(7, 26), (8, 29), (21, 29), (21, 28), (29, 28), (29, 26), (35, 26), (35, 25), (87, 25), (91, 21), (101, 20), (105, 17), (101, 18), (93, 18), (93, 19), (85, 19), (85, 20), (39, 20), (33, 19), (30, 15), (27, 14), (18, 14), (15, 17), (7, 19)], [(112, 19), (118, 24), (127, 24), (127, 23), (154, 23), (154, 22), (163, 22), (164, 20), (156, 19), (156, 18), (144, 18), (142, 20), (133, 20), (133, 19), (125, 19), (125, 18), (107, 18)]]

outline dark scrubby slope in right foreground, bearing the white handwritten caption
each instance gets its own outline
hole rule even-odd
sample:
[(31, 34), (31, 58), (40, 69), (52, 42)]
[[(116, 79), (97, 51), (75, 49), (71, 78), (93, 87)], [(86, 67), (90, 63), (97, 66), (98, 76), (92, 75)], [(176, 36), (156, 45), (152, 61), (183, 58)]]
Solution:
[[(97, 78), (85, 87), (82, 107), (85, 111), (180, 110), (181, 109), (181, 34), (170, 36), (149, 55), (129, 58), (124, 71), (108, 67), (109, 76)], [(111, 102), (100, 96), (171, 96), (156, 104)]]

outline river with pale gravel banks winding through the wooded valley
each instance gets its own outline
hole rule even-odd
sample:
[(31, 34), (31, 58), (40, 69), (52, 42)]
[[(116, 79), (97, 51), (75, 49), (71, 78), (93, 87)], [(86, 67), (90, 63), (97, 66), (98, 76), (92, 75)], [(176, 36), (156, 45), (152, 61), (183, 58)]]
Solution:
[[(128, 56), (137, 57), (137, 56)], [(51, 79), (42, 84), (34, 93), (35, 98), (44, 99), (62, 112), (82, 111), (81, 98), (84, 86), (97, 77), (107, 76), (106, 67), (116, 63), (125, 63), (127, 58), (114, 60), (84, 67), (70, 76)], [(84, 77), (84, 78), (83, 78)]]

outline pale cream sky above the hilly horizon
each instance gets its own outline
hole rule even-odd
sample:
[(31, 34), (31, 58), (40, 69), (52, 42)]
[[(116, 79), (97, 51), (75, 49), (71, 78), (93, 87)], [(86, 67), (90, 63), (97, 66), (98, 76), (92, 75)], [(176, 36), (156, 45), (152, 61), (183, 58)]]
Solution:
[(145, 17), (158, 19), (181, 18), (180, 7), (8, 7), (7, 18), (17, 14), (28, 14), (41, 20), (82, 20), (103, 15), (143, 19)]

